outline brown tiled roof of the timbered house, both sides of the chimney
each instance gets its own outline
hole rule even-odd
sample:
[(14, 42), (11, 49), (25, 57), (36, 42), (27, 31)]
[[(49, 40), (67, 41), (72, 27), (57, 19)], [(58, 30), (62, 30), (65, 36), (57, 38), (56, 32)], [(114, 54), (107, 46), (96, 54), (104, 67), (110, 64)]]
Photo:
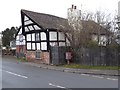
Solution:
[[(50, 14), (37, 13), (28, 10), (21, 10), (22, 13), (27, 15), (30, 19), (36, 22), (44, 29), (57, 29), (66, 32), (72, 32), (72, 28), (65, 18), (57, 17)], [(86, 30), (91, 34), (110, 34), (108, 30), (100, 26), (94, 21), (82, 21), (83, 31)]]

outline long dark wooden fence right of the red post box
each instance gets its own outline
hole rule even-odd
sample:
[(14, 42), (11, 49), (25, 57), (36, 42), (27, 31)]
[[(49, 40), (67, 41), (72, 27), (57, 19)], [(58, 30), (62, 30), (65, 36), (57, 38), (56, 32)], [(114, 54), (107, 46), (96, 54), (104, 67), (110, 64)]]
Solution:
[(120, 59), (120, 48), (77, 48), (74, 52), (75, 63), (90, 66), (117, 66)]

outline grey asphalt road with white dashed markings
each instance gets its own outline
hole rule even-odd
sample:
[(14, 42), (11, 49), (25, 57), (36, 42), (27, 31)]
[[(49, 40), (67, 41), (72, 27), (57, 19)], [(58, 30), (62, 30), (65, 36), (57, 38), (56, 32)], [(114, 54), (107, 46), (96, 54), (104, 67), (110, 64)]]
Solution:
[(118, 88), (118, 78), (42, 69), (2, 58), (2, 88)]

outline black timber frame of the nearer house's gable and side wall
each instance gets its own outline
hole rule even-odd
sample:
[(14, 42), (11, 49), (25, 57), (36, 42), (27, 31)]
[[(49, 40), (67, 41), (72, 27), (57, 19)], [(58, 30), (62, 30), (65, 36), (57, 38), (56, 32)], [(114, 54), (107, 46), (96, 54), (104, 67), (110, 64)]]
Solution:
[[(27, 20), (25, 20), (26, 17), (27, 17)], [(26, 14), (25, 10), (21, 10), (21, 22), (22, 22), (22, 34), (25, 36), (27, 51), (37, 51), (38, 50), (37, 43), (40, 43), (40, 46), (39, 46), (40, 51), (49, 51), (52, 43), (55, 43), (57, 46), (60, 46), (60, 43), (67, 46), (65, 33), (63, 33), (60, 30), (57, 30), (56, 28), (44, 28), (40, 24), (36, 23), (36, 21), (33, 18), (31, 18), (28, 14)], [(31, 23), (26, 24), (26, 22), (31, 22)], [(37, 26), (38, 29), (35, 28), (35, 25)], [(56, 40), (50, 40), (51, 32), (56, 33), (56, 35), (57, 35)], [(64, 40), (59, 40), (60, 32), (62, 32), (64, 34), (64, 37), (65, 37)], [(44, 40), (41, 39), (41, 35), (42, 35), (41, 33), (45, 34), (46, 39), (44, 39)], [(33, 39), (32, 34), (34, 34), (34, 36), (35, 36), (34, 40), (32, 40)], [(27, 38), (28, 38), (27, 35), (29, 35), (29, 38), (31, 37), (31, 39), (29, 41), (27, 40)], [(30, 46), (31, 49), (29, 49), (27, 47), (27, 43), (29, 43), (29, 45), (31, 45)], [(42, 50), (42, 48), (41, 48), (44, 46), (44, 45), (42, 45), (42, 43), (44, 43), (44, 44), (46, 43), (46, 45), (47, 45), (47, 48), (45, 50)]]

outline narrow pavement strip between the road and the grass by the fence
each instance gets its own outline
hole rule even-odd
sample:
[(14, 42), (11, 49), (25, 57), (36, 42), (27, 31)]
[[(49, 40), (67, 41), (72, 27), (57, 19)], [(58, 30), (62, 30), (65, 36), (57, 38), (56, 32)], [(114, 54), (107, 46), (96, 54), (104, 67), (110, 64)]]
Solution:
[(65, 67), (60, 67), (55, 65), (37, 64), (33, 62), (24, 62), (24, 64), (39, 67), (39, 68), (49, 69), (49, 70), (68, 72), (68, 73), (119, 76), (118, 70), (73, 69), (73, 68), (65, 68)]

